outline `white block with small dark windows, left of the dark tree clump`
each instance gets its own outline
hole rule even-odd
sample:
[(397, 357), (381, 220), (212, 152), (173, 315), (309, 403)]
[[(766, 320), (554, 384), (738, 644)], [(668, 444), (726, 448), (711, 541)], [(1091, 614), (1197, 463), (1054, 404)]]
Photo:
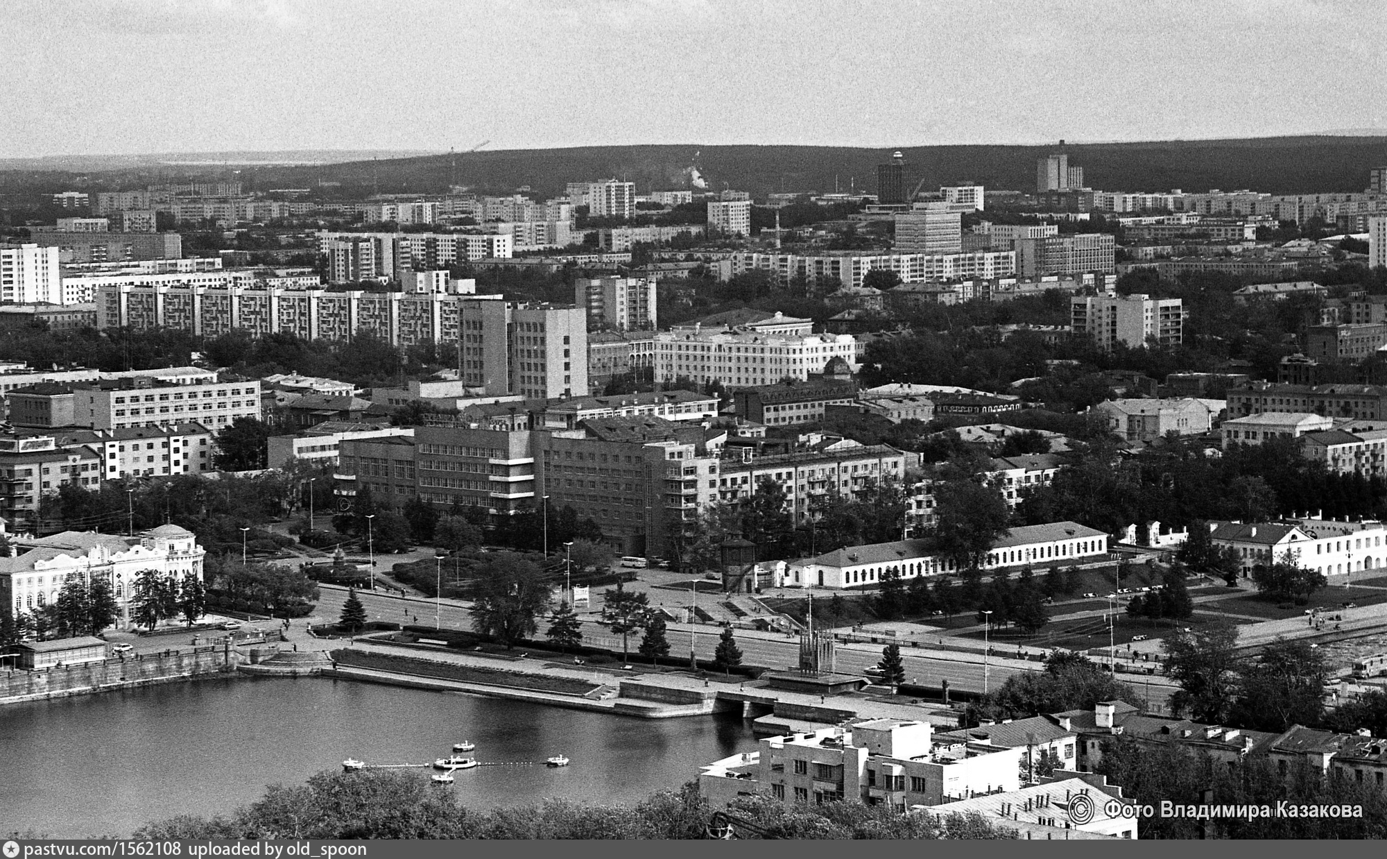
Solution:
[(112, 430), (75, 430), (62, 441), (96, 451), (101, 479), (200, 475), (212, 468), (212, 430), (201, 423), (129, 426)]

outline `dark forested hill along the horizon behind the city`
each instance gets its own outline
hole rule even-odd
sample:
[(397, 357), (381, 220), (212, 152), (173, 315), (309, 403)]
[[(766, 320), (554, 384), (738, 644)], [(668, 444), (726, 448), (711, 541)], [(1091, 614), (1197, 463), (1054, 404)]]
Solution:
[[(931, 146), (903, 148), (927, 187), (976, 182), (989, 189), (1033, 190), (1036, 158), (1057, 147)], [(1387, 137), (1265, 137), (1067, 146), (1086, 183), (1104, 190), (1203, 192), (1252, 189), (1273, 194), (1355, 192), (1368, 171), (1387, 165)], [(638, 192), (687, 187), (696, 167), (710, 189), (770, 192), (877, 190), (877, 165), (890, 150), (829, 146), (595, 146), (506, 150), (362, 161), (322, 168), (254, 171), (261, 187), (304, 187), (319, 179), (380, 192), (434, 192), (447, 185), (508, 192), (528, 185), (537, 194), (566, 182), (619, 176)]]

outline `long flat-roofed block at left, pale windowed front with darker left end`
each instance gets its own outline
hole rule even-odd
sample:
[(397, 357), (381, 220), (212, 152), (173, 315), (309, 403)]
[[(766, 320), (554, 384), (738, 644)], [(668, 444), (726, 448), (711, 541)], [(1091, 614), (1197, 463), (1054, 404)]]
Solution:
[(212, 432), (261, 416), (259, 382), (160, 382), (150, 377), (44, 382), (6, 397), (15, 426), (125, 429), (201, 423)]

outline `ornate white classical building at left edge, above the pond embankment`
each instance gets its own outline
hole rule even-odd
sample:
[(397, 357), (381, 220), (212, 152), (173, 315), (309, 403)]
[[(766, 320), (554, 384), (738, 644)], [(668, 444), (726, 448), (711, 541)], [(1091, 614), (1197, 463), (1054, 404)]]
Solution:
[(132, 587), (144, 570), (182, 583), (203, 579), (203, 556), (193, 531), (161, 525), (139, 537), (118, 537), (93, 531), (62, 531), (36, 540), (11, 541), (22, 554), (0, 558), (0, 599), (14, 613), (33, 613), (58, 598), (68, 576), (87, 583), (104, 579), (111, 584), (121, 615), (117, 624), (130, 623)]

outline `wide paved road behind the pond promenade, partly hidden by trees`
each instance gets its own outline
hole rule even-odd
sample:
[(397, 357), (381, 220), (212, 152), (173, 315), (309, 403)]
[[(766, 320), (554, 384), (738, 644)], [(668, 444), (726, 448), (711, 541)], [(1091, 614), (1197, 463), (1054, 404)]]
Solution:
[[(369, 591), (358, 591), (358, 597), (366, 608), (366, 615), (370, 620), (417, 623), (420, 626), (430, 626), (434, 622), (436, 604), (431, 599), (405, 599), (394, 595), (373, 594)], [(315, 612), (318, 622), (336, 622), (341, 613), (345, 598), (345, 591), (337, 588), (322, 588), (322, 599), (319, 601), (318, 611)], [(462, 605), (442, 601), (437, 605), (437, 616), (440, 629), (472, 629), (472, 612)], [(544, 622), (541, 622), (540, 631), (541, 634), (544, 633)], [(694, 649), (699, 659), (713, 658), (718, 636), (721, 636), (721, 629), (718, 627), (700, 626), (694, 630)], [(799, 663), (798, 638), (767, 638), (763, 636), (766, 634), (738, 631), (736, 645), (742, 651), (742, 662), (773, 669), (789, 669)], [(684, 656), (689, 652), (689, 627), (687, 624), (670, 624), (667, 638), (671, 655)], [(613, 636), (608, 627), (594, 620), (585, 620), (583, 623), (583, 641), (588, 645), (605, 647), (616, 652), (621, 651), (621, 636)], [(639, 643), (639, 633), (630, 636), (628, 647), (631, 663), (635, 666), (639, 666), (641, 661), (641, 656), (635, 652)], [(994, 688), (1013, 674), (1026, 670), (1039, 670), (1039, 663), (1029, 663), (1028, 667), (1021, 667), (1021, 663), (1017, 661), (1004, 659), (1000, 661), (1003, 662), (1000, 665), (989, 661), (989, 665), (983, 666), (981, 654), (958, 654), (954, 651), (936, 651), (929, 648), (918, 648), (921, 652), (915, 654), (913, 652), (914, 649), (915, 648), (906, 648), (902, 651), (902, 658), (906, 665), (906, 679), (911, 683), (921, 683), (925, 686), (938, 686), (940, 680), (949, 680), (950, 688), (979, 692), (983, 691), (985, 670), (988, 676), (988, 688)], [(860, 674), (865, 669), (877, 665), (879, 659), (881, 648), (874, 645), (839, 644), (836, 649), (838, 670), (845, 673)], [(1158, 704), (1162, 709), (1165, 709), (1169, 694), (1175, 691), (1175, 687), (1161, 676), (1128, 676), (1123, 679), (1136, 687), (1139, 695), (1146, 697), (1148, 694), (1151, 704)]]

